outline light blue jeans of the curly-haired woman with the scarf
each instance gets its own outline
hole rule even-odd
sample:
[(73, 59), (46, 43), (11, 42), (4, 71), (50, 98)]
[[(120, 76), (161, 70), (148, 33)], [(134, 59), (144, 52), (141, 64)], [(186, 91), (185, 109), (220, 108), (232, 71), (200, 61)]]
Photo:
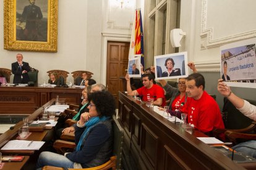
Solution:
[(43, 168), (46, 165), (62, 168), (74, 168), (74, 162), (70, 161), (64, 155), (59, 155), (53, 152), (40, 153), (36, 163), (36, 168)]

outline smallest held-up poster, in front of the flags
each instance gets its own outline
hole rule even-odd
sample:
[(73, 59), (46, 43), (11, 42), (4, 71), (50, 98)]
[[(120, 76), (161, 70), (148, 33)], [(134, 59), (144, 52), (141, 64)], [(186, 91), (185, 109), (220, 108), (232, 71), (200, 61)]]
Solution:
[(139, 54), (129, 59), (127, 70), (130, 78), (141, 77), (140, 57), (141, 55)]

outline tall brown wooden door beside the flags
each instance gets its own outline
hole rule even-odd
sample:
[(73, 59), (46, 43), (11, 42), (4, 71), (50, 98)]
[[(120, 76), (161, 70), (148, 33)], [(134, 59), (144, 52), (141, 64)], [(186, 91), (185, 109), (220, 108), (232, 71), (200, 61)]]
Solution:
[(118, 108), (118, 91), (126, 89), (125, 71), (128, 65), (130, 42), (108, 42), (108, 59), (106, 86), (116, 99)]

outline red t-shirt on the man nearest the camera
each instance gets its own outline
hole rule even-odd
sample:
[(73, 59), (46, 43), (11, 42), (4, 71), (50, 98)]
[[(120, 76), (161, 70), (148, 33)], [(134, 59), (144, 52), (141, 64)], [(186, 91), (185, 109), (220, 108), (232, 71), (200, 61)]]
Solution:
[(220, 108), (206, 91), (203, 91), (202, 97), (198, 100), (187, 97), (182, 112), (187, 113), (187, 122), (199, 131), (210, 132), (216, 128), (224, 129)]

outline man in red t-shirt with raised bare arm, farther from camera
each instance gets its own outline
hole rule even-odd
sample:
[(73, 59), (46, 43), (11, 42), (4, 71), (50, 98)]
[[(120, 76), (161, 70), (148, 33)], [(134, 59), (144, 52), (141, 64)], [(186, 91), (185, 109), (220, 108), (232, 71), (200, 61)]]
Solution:
[(126, 74), (127, 94), (142, 95), (143, 101), (154, 99), (154, 105), (165, 106), (164, 90), (162, 87), (153, 84), (153, 79), (154, 77), (151, 74), (142, 75), (143, 87), (140, 87), (135, 91), (132, 91), (132, 88), (130, 87), (129, 75)]

